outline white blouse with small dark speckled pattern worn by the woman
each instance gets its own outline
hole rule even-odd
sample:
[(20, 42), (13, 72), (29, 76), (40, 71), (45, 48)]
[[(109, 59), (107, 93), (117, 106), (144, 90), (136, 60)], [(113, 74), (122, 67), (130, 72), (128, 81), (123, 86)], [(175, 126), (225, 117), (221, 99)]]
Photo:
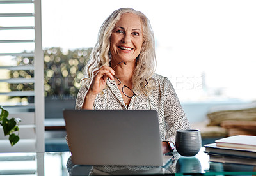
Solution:
[[(144, 94), (133, 96), (127, 108), (118, 87), (107, 81), (107, 86), (103, 90), (103, 93), (98, 94), (95, 99), (93, 109), (156, 110), (158, 113), (161, 140), (175, 142), (176, 130), (190, 128), (188, 119), (168, 78), (154, 74), (153, 84), (156, 89), (152, 91), (150, 96), (145, 96)], [(79, 90), (76, 99), (76, 109), (81, 109), (87, 90), (88, 86), (83, 86)]]

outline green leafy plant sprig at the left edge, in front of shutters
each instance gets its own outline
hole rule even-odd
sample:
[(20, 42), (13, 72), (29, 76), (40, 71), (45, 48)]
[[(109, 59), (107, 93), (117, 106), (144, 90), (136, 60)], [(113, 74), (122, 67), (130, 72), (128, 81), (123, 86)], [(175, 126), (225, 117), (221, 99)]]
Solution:
[[(12, 119), (7, 119), (9, 112), (7, 110), (4, 110), (1, 106), (1, 114), (0, 114), (0, 124), (3, 126), (3, 131), (4, 135), (7, 136), (9, 135), (9, 141), (11, 145), (15, 145), (19, 141), (19, 123), (20, 119), (19, 118), (12, 118)], [(15, 131), (18, 132), (18, 135), (15, 134)]]

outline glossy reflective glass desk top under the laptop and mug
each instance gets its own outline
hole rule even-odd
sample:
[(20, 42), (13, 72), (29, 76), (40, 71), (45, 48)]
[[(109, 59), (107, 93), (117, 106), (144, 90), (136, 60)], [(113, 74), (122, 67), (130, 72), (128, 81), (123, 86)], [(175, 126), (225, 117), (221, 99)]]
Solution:
[[(27, 174), (43, 175), (37, 173), (38, 162), (43, 167), (44, 175), (68, 175), (66, 163), (69, 152), (45, 152), (45, 153), (0, 153), (0, 175)], [(93, 167), (95, 175), (140, 175), (140, 174), (167, 174), (188, 175), (189, 173), (202, 173), (205, 175), (256, 175), (256, 166), (231, 165), (209, 162), (209, 156), (204, 153), (204, 148), (194, 157), (182, 157), (174, 154), (175, 159), (162, 167)], [(73, 172), (76, 175), (87, 175), (92, 166), (75, 166)], [(41, 169), (42, 170), (42, 169)]]

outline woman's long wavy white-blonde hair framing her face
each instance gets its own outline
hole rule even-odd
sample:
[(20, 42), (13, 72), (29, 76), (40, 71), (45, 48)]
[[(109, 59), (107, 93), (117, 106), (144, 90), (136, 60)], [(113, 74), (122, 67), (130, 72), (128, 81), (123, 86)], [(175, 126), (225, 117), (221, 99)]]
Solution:
[(153, 89), (152, 75), (156, 70), (154, 33), (148, 18), (140, 11), (136, 11), (132, 8), (120, 8), (115, 10), (103, 22), (99, 30), (97, 43), (92, 50), (90, 59), (84, 70), (85, 78), (82, 79), (82, 83), (86, 84), (91, 81), (93, 71), (99, 69), (103, 65), (109, 66), (109, 63), (111, 62), (111, 34), (116, 22), (120, 20), (121, 15), (124, 13), (133, 13), (141, 18), (143, 27), (143, 45), (141, 47), (141, 52), (136, 59), (136, 68), (132, 77), (132, 85), (134, 91), (148, 95)]

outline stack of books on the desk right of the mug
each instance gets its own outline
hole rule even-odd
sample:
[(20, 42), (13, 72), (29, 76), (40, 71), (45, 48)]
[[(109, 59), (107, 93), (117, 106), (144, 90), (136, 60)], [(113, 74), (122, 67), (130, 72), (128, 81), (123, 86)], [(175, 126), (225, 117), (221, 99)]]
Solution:
[(204, 145), (209, 161), (256, 166), (256, 136), (237, 135)]

